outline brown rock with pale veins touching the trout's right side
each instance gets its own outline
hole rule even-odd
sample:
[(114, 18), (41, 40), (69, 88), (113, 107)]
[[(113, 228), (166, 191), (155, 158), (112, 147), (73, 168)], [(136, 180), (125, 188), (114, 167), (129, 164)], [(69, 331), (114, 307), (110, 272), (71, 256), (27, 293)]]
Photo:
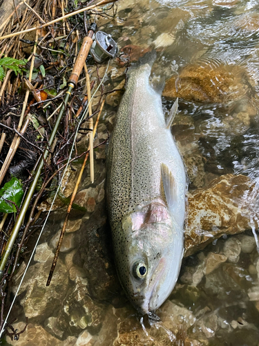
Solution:
[[(226, 174), (213, 180), (207, 190), (189, 194), (184, 255), (195, 253), (222, 235), (251, 229), (251, 215), (252, 212), (257, 213), (255, 206), (258, 199), (253, 188), (249, 177)], [(237, 253), (240, 250), (239, 246)], [(226, 256), (233, 260), (230, 253)]]

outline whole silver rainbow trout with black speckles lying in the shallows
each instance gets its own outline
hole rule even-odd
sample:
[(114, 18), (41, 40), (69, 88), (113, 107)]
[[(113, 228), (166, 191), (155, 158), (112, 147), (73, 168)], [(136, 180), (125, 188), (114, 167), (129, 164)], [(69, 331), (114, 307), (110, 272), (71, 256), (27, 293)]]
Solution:
[(106, 192), (115, 264), (128, 299), (155, 311), (178, 279), (184, 250), (186, 174), (165, 121), (164, 83), (151, 86), (155, 51), (128, 71), (108, 148)]

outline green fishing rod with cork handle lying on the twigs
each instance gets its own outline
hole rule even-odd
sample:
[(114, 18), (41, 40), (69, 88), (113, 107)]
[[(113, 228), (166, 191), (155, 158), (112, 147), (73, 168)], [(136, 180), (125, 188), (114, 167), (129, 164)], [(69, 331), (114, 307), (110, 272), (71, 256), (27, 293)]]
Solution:
[[(86, 62), (86, 58), (88, 57), (88, 53), (90, 51), (90, 48), (93, 44), (93, 35), (95, 34), (97, 30), (97, 25), (95, 23), (90, 24), (90, 28), (88, 30), (88, 35), (84, 37), (83, 42), (81, 44), (81, 48), (79, 51), (79, 54), (77, 55), (77, 60), (75, 61), (75, 65), (73, 68), (73, 71), (70, 75), (70, 79), (68, 80), (68, 90), (66, 91), (66, 97), (65, 100), (61, 106), (61, 109), (59, 111), (59, 115), (57, 116), (57, 120), (55, 122), (55, 125), (51, 131), (50, 138), (48, 139), (48, 144), (51, 147), (54, 138), (57, 133), (57, 129), (59, 127), (59, 123), (61, 122), (61, 118), (64, 114), (64, 111), (66, 109), (66, 105), (68, 104), (68, 100), (70, 98), (70, 95), (77, 85), (79, 75), (81, 74), (81, 71), (84, 67), (84, 64)], [(42, 154), (41, 159), (39, 161), (39, 164), (37, 165), (37, 169), (35, 170), (35, 176), (34, 179), (30, 185), (30, 188), (26, 194), (26, 198), (23, 202), (23, 205), (21, 207), (21, 211), (19, 212), (19, 216), (17, 217), (17, 221), (15, 223), (14, 228), (12, 229), (12, 233), (10, 235), (10, 238), (8, 239), (8, 242), (6, 244), (6, 248), (3, 251), (3, 255), (1, 257), (0, 262), (0, 280), (3, 277), (4, 269), (6, 267), (6, 263), (8, 261), (8, 257), (10, 255), (10, 252), (12, 251), (12, 246), (15, 244), (15, 239), (17, 238), (17, 235), (19, 233), (19, 230), (21, 228), (21, 225), (23, 223), (23, 219), (26, 215), (26, 211), (28, 210), (28, 207), (30, 205), (30, 201), (32, 200), (32, 196), (35, 192), (35, 188), (37, 186), (37, 183), (39, 181), (39, 176), (41, 175), (41, 170), (44, 167), (44, 162), (46, 162), (46, 158), (48, 157), (49, 151), (48, 149), (45, 149), (44, 154)]]

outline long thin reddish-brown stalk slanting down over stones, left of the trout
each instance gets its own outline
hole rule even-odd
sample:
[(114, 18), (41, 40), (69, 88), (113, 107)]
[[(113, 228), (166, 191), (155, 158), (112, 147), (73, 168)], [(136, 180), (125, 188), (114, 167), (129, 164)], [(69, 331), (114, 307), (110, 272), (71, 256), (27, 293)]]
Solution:
[[(89, 96), (89, 99), (90, 99), (90, 94), (88, 94), (88, 96)], [(103, 100), (103, 102), (102, 102), (101, 108), (100, 108), (99, 113), (98, 113), (98, 116), (97, 116), (97, 120), (96, 120), (96, 122), (95, 122), (95, 128), (93, 129), (93, 132), (92, 132), (93, 136), (95, 136), (95, 133), (96, 133), (96, 130), (97, 130), (97, 125), (98, 125), (98, 123), (99, 123), (99, 118), (100, 118), (100, 116), (101, 116), (102, 109), (103, 109), (103, 107), (104, 107), (104, 102), (105, 102), (105, 100)], [(90, 106), (90, 103), (89, 103), (89, 106)], [(90, 151), (90, 144), (89, 144), (89, 146), (88, 146), (88, 150)], [(56, 267), (56, 264), (57, 264), (57, 258), (59, 257), (59, 251), (60, 251), (60, 248), (61, 248), (62, 240), (63, 240), (63, 238), (64, 238), (64, 234), (65, 234), (65, 232), (66, 232), (66, 226), (67, 226), (67, 224), (68, 224), (68, 217), (69, 217), (69, 215), (70, 215), (70, 211), (71, 211), (71, 209), (72, 209), (73, 202), (75, 201), (75, 196), (76, 196), (76, 194), (77, 194), (77, 190), (78, 190), (79, 184), (80, 184), (80, 182), (81, 182), (81, 177), (82, 177), (82, 175), (83, 175), (83, 173), (84, 173), (84, 167), (86, 167), (86, 161), (87, 161), (87, 159), (88, 159), (88, 156), (89, 156), (89, 155), (88, 155), (88, 153), (87, 153), (86, 156), (85, 156), (85, 158), (84, 158), (84, 163), (83, 163), (83, 165), (81, 166), (81, 170), (80, 170), (79, 176), (78, 176), (78, 178), (77, 178), (77, 183), (75, 184), (75, 188), (74, 188), (73, 194), (72, 194), (72, 196), (71, 196), (71, 199), (70, 199), (70, 202), (69, 202), (69, 205), (68, 205), (68, 210), (67, 210), (67, 212), (66, 212), (66, 218), (65, 218), (63, 227), (62, 227), (62, 229), (61, 229), (61, 233), (60, 233), (60, 237), (59, 237), (59, 242), (58, 242), (58, 244), (57, 244), (57, 249), (56, 249), (55, 256), (54, 256), (54, 259), (53, 259), (53, 262), (52, 262), (52, 266), (51, 266), (51, 268), (50, 268), (50, 273), (49, 273), (49, 275), (48, 275), (48, 280), (47, 280), (46, 286), (49, 286), (49, 285), (50, 285), (52, 275), (53, 275), (53, 273), (54, 273), (54, 271), (55, 271), (55, 267)]]

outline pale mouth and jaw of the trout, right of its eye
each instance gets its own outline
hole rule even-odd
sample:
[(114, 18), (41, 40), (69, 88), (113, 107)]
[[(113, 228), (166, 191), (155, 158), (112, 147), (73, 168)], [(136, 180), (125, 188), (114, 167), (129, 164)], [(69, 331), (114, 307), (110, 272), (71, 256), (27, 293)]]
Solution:
[(161, 258), (160, 262), (157, 263), (157, 266), (154, 268), (153, 273), (151, 275), (150, 284), (148, 285), (148, 294), (146, 294), (146, 298), (144, 299), (144, 303), (140, 309), (140, 313), (145, 315), (146, 313), (151, 313), (155, 311), (159, 306), (155, 307), (155, 289), (160, 282), (160, 277), (162, 277), (165, 268), (165, 258)]

